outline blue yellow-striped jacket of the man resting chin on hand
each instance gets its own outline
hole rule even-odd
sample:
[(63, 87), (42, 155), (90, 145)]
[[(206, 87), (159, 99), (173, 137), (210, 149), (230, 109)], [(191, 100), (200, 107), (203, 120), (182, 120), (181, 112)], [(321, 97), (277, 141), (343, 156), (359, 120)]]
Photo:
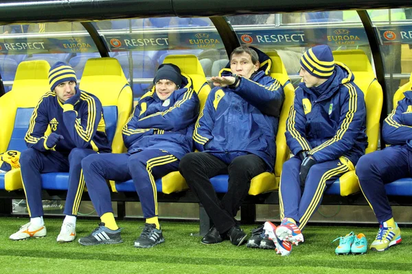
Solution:
[(94, 95), (81, 92), (80, 100), (74, 105), (74, 111), (63, 112), (63, 103), (56, 97), (54, 91), (49, 91), (34, 108), (29, 129), (25, 135), (28, 148), (38, 151), (49, 150), (44, 136), (47, 127), (52, 132), (65, 138), (60, 140), (53, 150), (68, 155), (71, 149), (93, 149), (98, 152), (111, 152), (105, 132), (102, 103)]

